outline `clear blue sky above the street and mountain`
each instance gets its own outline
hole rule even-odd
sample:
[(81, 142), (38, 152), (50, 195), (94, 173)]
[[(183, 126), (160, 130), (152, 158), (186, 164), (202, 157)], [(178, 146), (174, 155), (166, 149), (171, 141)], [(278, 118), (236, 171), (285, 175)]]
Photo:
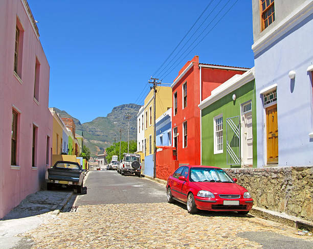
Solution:
[[(50, 64), (49, 106), (66, 110), (83, 123), (106, 116), (117, 105), (143, 104), (149, 77), (211, 1), (28, 2), (39, 21), (40, 40)], [(183, 53), (203, 30), (203, 35)], [(154, 76), (162, 76), (163, 82), (172, 83), (181, 67), (194, 55), (199, 55), (202, 63), (252, 67), (252, 43), (251, 1), (213, 0), (168, 62), (181, 51), (179, 55), (161, 74)], [(167, 70), (166, 74), (172, 71), (165, 77)], [(143, 97), (138, 99), (143, 90)], [(76, 96), (76, 99), (73, 101), (69, 96)]]

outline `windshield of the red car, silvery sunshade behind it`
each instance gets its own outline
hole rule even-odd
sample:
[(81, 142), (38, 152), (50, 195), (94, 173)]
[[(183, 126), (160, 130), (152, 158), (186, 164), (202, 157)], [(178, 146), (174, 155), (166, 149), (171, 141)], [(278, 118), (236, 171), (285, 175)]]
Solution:
[(222, 169), (191, 168), (190, 182), (234, 183)]

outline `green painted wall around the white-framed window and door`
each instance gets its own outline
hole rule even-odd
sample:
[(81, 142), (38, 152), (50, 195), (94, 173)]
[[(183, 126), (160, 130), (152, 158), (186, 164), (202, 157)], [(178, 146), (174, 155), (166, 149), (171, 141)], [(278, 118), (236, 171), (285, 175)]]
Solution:
[[(232, 100), (233, 94), (236, 100)], [(232, 93), (222, 97), (216, 102), (202, 110), (202, 165), (216, 166), (220, 168), (230, 168), (227, 165), (226, 152), (226, 119), (239, 116), (241, 104), (251, 100), (252, 102), (252, 129), (253, 129), (253, 167), (257, 166), (256, 151), (256, 99), (255, 99), (255, 82), (241, 86)], [(223, 152), (214, 154), (214, 126), (215, 116), (223, 115)]]

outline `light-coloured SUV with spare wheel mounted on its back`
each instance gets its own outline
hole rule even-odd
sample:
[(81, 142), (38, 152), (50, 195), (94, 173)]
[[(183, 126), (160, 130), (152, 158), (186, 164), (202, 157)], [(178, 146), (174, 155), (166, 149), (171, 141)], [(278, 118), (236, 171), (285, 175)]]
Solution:
[(141, 175), (141, 159), (139, 154), (124, 153), (119, 167), (119, 173)]

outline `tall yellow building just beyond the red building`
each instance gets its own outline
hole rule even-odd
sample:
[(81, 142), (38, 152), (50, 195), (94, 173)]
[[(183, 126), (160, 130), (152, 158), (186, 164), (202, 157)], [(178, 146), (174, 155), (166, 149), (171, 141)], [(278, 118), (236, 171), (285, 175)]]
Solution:
[[(169, 86), (157, 86), (155, 88), (157, 93), (155, 93), (155, 119), (161, 117), (165, 111), (172, 107), (172, 89)], [(144, 155), (153, 154), (153, 89), (150, 90), (147, 97), (145, 98), (143, 116), (144, 125)]]

